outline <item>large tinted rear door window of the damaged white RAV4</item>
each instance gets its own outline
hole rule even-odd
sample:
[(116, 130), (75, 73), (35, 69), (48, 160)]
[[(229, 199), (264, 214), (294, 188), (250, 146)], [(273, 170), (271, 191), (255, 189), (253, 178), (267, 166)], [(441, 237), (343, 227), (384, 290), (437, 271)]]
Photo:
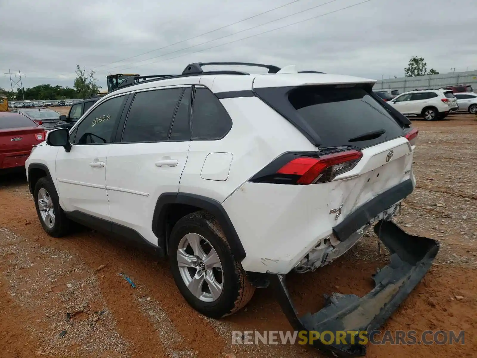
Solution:
[(122, 142), (167, 140), (183, 88), (136, 93), (124, 125)]

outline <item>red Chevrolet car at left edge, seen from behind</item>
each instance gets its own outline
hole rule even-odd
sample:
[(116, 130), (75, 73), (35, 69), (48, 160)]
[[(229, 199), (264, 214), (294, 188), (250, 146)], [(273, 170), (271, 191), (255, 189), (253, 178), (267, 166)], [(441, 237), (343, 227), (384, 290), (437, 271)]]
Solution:
[(0, 112), (0, 169), (21, 167), (46, 130), (27, 116)]

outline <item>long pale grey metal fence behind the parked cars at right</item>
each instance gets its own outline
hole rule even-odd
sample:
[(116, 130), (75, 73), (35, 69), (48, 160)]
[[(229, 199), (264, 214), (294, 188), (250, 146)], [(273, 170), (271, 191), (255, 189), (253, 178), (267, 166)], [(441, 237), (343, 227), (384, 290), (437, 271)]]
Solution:
[(477, 70), (378, 80), (373, 89), (391, 89), (403, 93), (415, 89), (442, 88), (455, 84), (470, 84), (474, 91), (477, 91)]

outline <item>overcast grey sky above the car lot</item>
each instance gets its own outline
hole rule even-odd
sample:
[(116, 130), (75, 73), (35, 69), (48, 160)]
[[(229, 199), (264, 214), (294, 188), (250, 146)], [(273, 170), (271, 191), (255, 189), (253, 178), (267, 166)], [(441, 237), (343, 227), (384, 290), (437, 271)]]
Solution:
[(381, 79), (418, 55), (440, 73), (477, 70), (477, 0), (363, 1), (0, 0), (0, 70), (20, 69), (24, 87), (73, 86), (79, 64), (103, 88), (108, 73), (211, 61)]

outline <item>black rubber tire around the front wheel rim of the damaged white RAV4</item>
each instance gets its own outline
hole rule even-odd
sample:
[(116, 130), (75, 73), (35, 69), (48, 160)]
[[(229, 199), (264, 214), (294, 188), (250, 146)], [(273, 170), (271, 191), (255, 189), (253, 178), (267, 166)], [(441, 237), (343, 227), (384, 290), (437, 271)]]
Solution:
[[(45, 192), (48, 194), (47, 196), (45, 195)], [(51, 199), (51, 208), (53, 209), (52, 212), (54, 213), (54, 221), (50, 221), (50, 226), (41, 216), (41, 208), (38, 200), (39, 194), (41, 197), (46, 196)], [(69, 232), (70, 221), (60, 206), (60, 201), (58, 199), (58, 193), (56, 192), (55, 186), (48, 178), (43, 177), (36, 182), (35, 189), (33, 190), (33, 200), (35, 200), (35, 208), (38, 219), (40, 220), (41, 226), (45, 232), (53, 237), (62, 237)]]

